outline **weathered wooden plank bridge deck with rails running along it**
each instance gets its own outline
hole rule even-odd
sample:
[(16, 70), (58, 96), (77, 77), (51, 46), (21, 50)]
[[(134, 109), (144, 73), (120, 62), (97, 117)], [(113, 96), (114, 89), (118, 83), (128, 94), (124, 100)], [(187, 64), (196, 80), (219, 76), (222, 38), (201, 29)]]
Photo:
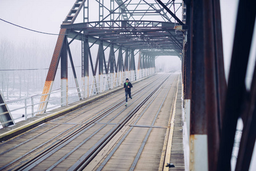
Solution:
[[(17, 169), (33, 159), (26, 169), (76, 170), (84, 164), (84, 170), (185, 170), (181, 79), (179, 73), (167, 76), (137, 83), (128, 107), (121, 104), (108, 112), (123, 100), (119, 91), (1, 143), (0, 168)], [(165, 77), (131, 115), (154, 91), (155, 80)], [(175, 168), (165, 167), (167, 163)]]

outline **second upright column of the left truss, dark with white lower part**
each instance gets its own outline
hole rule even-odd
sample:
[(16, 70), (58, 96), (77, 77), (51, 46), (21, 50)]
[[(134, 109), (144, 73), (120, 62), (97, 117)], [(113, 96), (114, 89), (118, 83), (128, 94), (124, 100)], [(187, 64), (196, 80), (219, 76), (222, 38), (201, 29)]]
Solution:
[(83, 55), (83, 77), (84, 77), (84, 98), (89, 97), (89, 42), (88, 35), (84, 36), (84, 55)]

